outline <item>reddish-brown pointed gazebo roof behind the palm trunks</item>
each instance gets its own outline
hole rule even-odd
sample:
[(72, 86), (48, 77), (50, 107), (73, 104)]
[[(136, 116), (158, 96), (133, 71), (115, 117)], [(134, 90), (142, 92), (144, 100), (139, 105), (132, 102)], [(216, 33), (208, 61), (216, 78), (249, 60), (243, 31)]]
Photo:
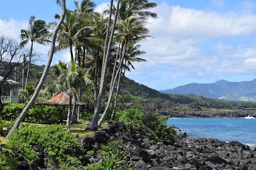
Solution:
[[(48, 101), (41, 103), (36, 103), (37, 105), (69, 105), (69, 95), (64, 92), (52, 97)], [(74, 104), (74, 99), (72, 99), (72, 105)], [(86, 103), (81, 103), (76, 101), (76, 105), (86, 105)]]

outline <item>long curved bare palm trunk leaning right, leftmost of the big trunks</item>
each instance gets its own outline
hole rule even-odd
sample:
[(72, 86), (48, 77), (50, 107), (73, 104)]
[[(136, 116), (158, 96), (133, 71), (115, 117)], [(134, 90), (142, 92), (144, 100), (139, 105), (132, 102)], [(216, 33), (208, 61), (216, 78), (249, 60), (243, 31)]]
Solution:
[(11, 128), (10, 132), (7, 134), (7, 136), (6, 136), (7, 138), (10, 136), (10, 134), (12, 133), (12, 131), (14, 129), (17, 129), (20, 126), (20, 123), (22, 122), (22, 120), (24, 119), (26, 114), (28, 113), (28, 110), (30, 109), (30, 107), (36, 101), (36, 97), (38, 96), (38, 93), (39, 93), (42, 85), (44, 84), (44, 81), (46, 79), (46, 75), (49, 72), (50, 65), (51, 65), (51, 62), (52, 62), (52, 57), (53, 57), (54, 48), (55, 48), (56, 36), (58, 34), (58, 30), (60, 29), (60, 26), (63, 23), (65, 15), (66, 15), (66, 0), (62, 0), (61, 9), (62, 9), (62, 14), (61, 14), (60, 20), (59, 20), (58, 24), (56, 25), (56, 27), (54, 28), (54, 31), (52, 33), (52, 42), (51, 42), (50, 50), (49, 50), (49, 53), (48, 53), (48, 60), (47, 60), (46, 66), (44, 67), (44, 72), (41, 76), (41, 79), (40, 79), (40, 81), (39, 81), (39, 83), (36, 87), (36, 90), (35, 90), (33, 96), (31, 97), (31, 99), (27, 103), (26, 107), (22, 110), (22, 112), (18, 116), (18, 118), (15, 121), (13, 127)]

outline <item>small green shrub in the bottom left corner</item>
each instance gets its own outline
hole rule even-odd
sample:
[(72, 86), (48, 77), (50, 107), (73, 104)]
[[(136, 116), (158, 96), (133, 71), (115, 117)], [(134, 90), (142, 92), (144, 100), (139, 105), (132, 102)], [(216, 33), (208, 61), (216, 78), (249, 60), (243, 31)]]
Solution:
[(0, 170), (16, 170), (18, 164), (11, 150), (0, 148)]

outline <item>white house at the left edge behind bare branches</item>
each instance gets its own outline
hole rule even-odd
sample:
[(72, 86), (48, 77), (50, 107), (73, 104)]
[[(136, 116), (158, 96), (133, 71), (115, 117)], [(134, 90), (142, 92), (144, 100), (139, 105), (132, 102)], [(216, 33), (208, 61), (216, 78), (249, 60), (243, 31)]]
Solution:
[[(0, 81), (3, 80), (4, 77), (0, 76)], [(10, 91), (3, 91), (1, 96), (2, 103), (11, 102), (11, 103), (19, 103), (18, 95), (20, 92), (19, 83), (10, 79), (7, 79), (7, 82), (10, 85)]]

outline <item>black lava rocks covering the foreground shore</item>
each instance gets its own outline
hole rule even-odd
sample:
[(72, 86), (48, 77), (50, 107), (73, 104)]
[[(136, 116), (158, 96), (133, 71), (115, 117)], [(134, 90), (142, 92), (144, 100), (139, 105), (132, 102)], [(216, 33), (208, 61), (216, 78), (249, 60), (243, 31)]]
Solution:
[[(119, 140), (124, 145), (116, 145), (127, 155), (120, 164), (130, 162), (135, 170), (254, 170), (256, 169), (256, 148), (249, 147), (238, 141), (222, 142), (217, 139), (206, 138), (177, 138), (175, 143), (164, 144), (155, 142), (149, 136), (136, 138), (132, 131), (123, 124), (109, 125), (92, 136), (79, 138), (83, 148), (98, 150), (101, 144), (111, 140)], [(38, 147), (33, 147), (35, 152)], [(14, 150), (16, 155), (19, 155)], [(45, 170), (44, 155), (41, 155), (39, 168)], [(20, 158), (21, 159), (21, 158)], [(102, 161), (100, 157), (83, 156), (82, 165)], [(18, 170), (39, 169), (35, 164), (22, 161)], [(48, 170), (56, 170), (56, 167)]]

